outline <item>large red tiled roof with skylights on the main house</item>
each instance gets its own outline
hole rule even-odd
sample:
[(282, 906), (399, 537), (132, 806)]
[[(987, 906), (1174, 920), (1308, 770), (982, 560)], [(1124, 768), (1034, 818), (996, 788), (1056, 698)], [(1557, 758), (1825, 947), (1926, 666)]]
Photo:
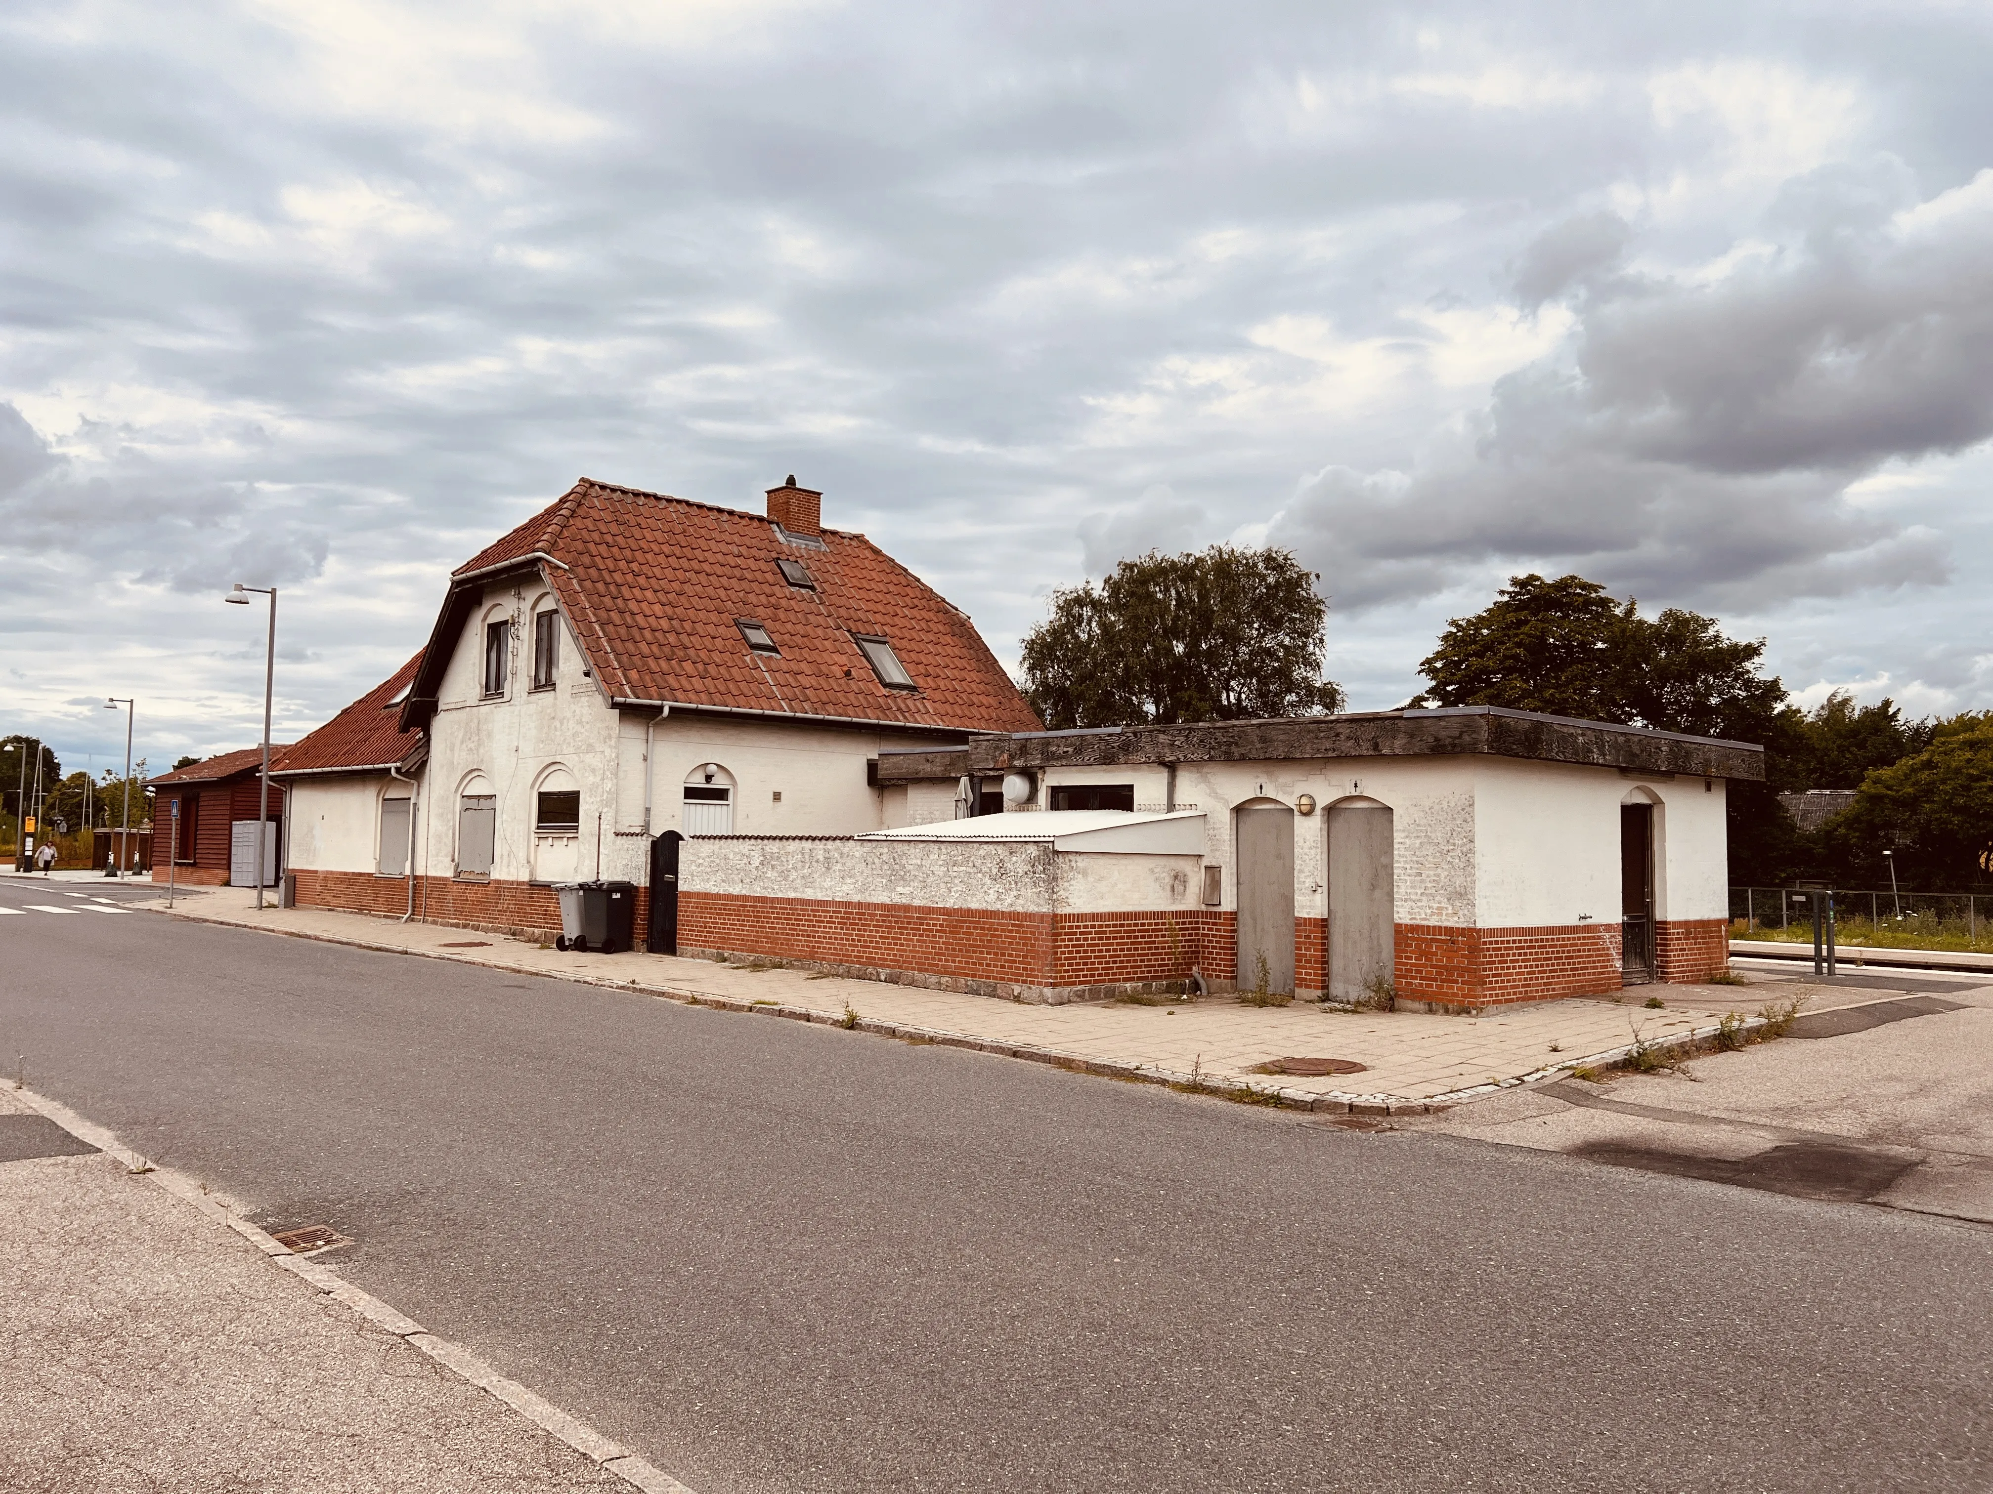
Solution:
[[(456, 570), (532, 554), (610, 695), (953, 731), (1040, 723), (975, 623), (863, 534), (785, 542), (761, 514), (582, 478)], [(815, 590), (789, 586), (799, 560)], [(448, 616), (448, 614), (446, 614)], [(735, 620), (767, 627), (753, 653)], [(853, 633), (885, 637), (917, 689), (879, 683)], [(438, 659), (440, 669), (440, 659)], [(417, 681), (432, 693), (434, 681)]]

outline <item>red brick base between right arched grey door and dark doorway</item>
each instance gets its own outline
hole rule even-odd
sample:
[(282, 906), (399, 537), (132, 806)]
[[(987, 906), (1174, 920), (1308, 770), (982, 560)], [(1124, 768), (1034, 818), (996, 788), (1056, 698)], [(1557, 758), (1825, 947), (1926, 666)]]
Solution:
[(1511, 1006), (1620, 988), (1618, 924), (1399, 924), (1395, 986), (1439, 1006)]

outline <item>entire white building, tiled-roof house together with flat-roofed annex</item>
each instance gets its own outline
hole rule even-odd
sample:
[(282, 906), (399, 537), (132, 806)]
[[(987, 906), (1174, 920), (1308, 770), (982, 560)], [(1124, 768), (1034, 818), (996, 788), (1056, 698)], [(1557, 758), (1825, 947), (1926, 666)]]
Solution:
[(285, 753), (303, 904), (1064, 1002), (1433, 1010), (1726, 958), (1762, 749), (1495, 707), (1042, 731), (969, 618), (793, 478), (600, 482), (458, 568), (428, 643)]

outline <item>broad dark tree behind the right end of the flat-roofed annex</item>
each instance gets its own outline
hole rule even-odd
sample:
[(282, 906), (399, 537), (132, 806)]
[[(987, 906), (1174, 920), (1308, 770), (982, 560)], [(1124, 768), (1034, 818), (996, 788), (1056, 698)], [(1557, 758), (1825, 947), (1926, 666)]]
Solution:
[[(1714, 618), (1666, 608), (1642, 618), (1638, 604), (1582, 576), (1513, 576), (1495, 602), (1455, 618), (1419, 663), (1431, 681), (1421, 703), (1505, 705), (1728, 737), (1766, 749), (1766, 781), (1730, 785), (1730, 874), (1784, 880), (1804, 865), (1806, 845), (1778, 803), (1802, 761), (1798, 711), (1786, 687), (1764, 675), (1764, 639), (1726, 637)], [(1798, 717), (1798, 719), (1796, 719)]]

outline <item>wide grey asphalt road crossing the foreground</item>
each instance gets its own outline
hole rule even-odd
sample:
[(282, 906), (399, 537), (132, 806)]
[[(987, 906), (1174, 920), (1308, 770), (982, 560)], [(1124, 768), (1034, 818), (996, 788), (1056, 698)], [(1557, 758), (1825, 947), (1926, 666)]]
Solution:
[(142, 912), (16, 1054), (698, 1494), (1993, 1486), (1975, 1225)]

